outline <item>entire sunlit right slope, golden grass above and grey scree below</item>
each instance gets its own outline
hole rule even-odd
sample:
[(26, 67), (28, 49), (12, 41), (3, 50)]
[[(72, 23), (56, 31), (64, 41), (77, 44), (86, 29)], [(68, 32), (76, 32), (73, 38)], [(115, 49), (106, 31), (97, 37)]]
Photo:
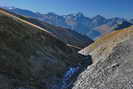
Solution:
[(81, 73), (73, 89), (133, 88), (133, 26), (99, 38), (80, 53), (93, 64)]

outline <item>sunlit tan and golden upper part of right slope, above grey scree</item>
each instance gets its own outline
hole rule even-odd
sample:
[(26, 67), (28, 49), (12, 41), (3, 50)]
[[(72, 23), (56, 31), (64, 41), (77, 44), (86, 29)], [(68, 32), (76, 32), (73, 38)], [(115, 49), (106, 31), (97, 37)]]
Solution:
[[(83, 55), (91, 54), (94, 59), (95, 57), (99, 57), (100, 59), (100, 57), (107, 56), (107, 54), (112, 52), (112, 48), (118, 43), (125, 41), (126, 39), (129, 39), (132, 36), (133, 26), (130, 26), (128, 28), (104, 35), (103, 37), (97, 39), (90, 46), (79, 51), (79, 53)], [(102, 54), (104, 54), (104, 56)]]

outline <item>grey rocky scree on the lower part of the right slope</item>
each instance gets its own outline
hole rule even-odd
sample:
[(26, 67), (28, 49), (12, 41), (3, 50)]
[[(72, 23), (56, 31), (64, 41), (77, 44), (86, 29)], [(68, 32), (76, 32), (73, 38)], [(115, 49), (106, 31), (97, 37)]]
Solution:
[(97, 57), (97, 63), (80, 74), (72, 89), (133, 89), (133, 37), (129, 37), (113, 46), (109, 56)]

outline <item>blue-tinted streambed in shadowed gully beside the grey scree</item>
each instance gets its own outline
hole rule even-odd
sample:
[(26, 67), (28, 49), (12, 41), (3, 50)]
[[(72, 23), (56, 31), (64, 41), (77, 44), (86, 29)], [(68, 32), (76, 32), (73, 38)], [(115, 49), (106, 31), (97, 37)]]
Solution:
[(64, 75), (64, 79), (63, 79), (64, 84), (62, 85), (61, 89), (72, 89), (79, 75), (84, 70), (86, 70), (89, 65), (93, 63), (92, 57), (90, 55), (83, 56), (83, 58), (84, 60), (80, 64), (69, 68), (69, 70), (66, 72), (66, 74)]

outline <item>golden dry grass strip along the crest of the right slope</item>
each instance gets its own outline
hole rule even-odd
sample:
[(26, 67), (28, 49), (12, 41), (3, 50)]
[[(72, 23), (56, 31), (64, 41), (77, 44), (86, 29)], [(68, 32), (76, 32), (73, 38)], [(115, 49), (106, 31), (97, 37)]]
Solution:
[[(79, 53), (88, 55), (89, 53), (91, 53), (95, 49), (98, 49), (99, 47), (101, 49), (104, 49), (105, 47), (108, 47), (108, 46), (110, 46), (110, 47), (114, 46), (115, 44), (117, 44), (125, 39), (128, 39), (130, 36), (133, 36), (133, 26), (130, 26), (123, 30), (112, 32), (111, 34), (105, 34), (103, 37), (97, 39), (90, 46), (79, 51)], [(99, 49), (99, 51), (101, 49)]]

